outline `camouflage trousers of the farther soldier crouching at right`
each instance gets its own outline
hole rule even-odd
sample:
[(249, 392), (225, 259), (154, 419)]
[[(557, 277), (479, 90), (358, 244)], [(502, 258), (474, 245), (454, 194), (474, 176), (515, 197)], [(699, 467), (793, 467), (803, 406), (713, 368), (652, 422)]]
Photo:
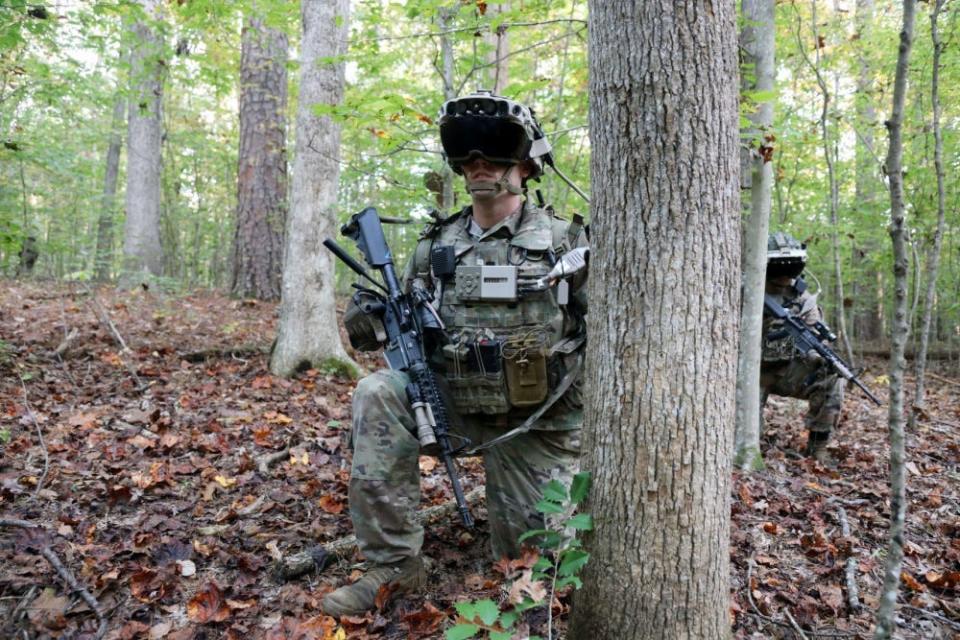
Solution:
[(760, 368), (760, 424), (763, 404), (771, 393), (808, 400), (804, 419), (814, 433), (831, 433), (840, 420), (846, 381), (823, 363), (794, 358), (786, 362), (764, 362)]

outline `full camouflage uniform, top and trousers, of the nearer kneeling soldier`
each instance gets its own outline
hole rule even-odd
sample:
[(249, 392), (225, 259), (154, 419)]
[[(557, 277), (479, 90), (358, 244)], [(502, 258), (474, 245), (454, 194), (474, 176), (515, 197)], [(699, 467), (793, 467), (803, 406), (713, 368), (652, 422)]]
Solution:
[[(436, 290), (432, 246), (454, 246), (458, 265), (516, 265), (521, 276), (537, 277), (564, 251), (585, 244), (579, 224), (555, 218), (547, 209), (525, 204), (481, 231), (468, 208), (424, 232), (404, 281), (421, 278)], [(460, 297), (462, 282), (444, 283), (439, 312), (450, 343), (437, 350), (432, 368), (449, 399), (453, 434), (474, 444), (487, 442), (521, 424), (540, 406), (541, 396), (556, 388), (579, 357), (578, 341), (565, 339), (583, 335), (585, 277), (571, 283), (566, 305), (558, 303), (555, 289), (517, 302), (466, 302)], [(502, 347), (496, 358), (476, 351), (478, 344), (497, 341)], [(562, 345), (573, 348), (562, 353)], [(361, 380), (353, 396), (350, 516), (360, 549), (376, 564), (417, 556), (423, 543), (423, 527), (413, 516), (420, 501), (418, 456), (424, 452), (415, 435), (407, 382), (405, 373), (383, 369)], [(527, 383), (539, 391), (529, 394), (523, 389)], [(577, 471), (581, 424), (578, 380), (532, 430), (484, 451), (495, 558), (515, 557), (518, 536), (544, 526), (534, 505), (546, 482), (568, 480)]]

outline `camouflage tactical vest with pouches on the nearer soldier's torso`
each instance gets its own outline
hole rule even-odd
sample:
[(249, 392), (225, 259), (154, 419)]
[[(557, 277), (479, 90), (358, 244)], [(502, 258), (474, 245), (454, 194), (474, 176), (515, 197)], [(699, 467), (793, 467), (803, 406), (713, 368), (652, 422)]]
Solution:
[[(581, 319), (561, 305), (556, 289), (515, 301), (480, 300), (470, 267), (515, 266), (518, 280), (545, 276), (582, 230), (550, 210), (525, 205), (515, 233), (501, 229), (476, 239), (465, 210), (429, 228), (417, 245), (408, 276), (421, 278), (439, 297), (436, 306), (449, 342), (432, 364), (447, 380), (453, 404), (464, 414), (504, 415), (535, 410), (556, 387), (583, 344)], [(437, 278), (433, 248), (452, 246), (456, 275)], [(571, 389), (578, 393), (578, 389)], [(567, 395), (570, 395), (570, 391)]]

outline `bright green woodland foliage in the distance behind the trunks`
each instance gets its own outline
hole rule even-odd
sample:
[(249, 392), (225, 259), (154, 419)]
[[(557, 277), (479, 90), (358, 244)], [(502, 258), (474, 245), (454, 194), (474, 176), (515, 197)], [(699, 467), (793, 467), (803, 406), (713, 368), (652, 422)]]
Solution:
[[(168, 2), (150, 21), (161, 36), (156, 53), (162, 70), (159, 211), (167, 287), (231, 284), (241, 29), (254, 11), (289, 42), (289, 53), (280, 60), (288, 71), (290, 96), (282, 115), (293, 122), (298, 8), (287, 2), (255, 4)], [(904, 123), (914, 310), (937, 226), (929, 10), (921, 4)], [(585, 2), (360, 1), (351, 12), (344, 102), (314, 105), (342, 125), (342, 216), (376, 205), (391, 216), (425, 219), (429, 209), (449, 207), (438, 186), (446, 170), (433, 119), (445, 96), (480, 87), (497, 86), (532, 104), (556, 148), (558, 165), (589, 191)], [(136, 81), (129, 51), (138, 36), (131, 25), (142, 14), (138, 4), (126, 2), (7, 0), (0, 6), (3, 273), (16, 271), (23, 239), (33, 236), (37, 275), (120, 275), (128, 165), (121, 139), (126, 137), (124, 105)], [(890, 315), (883, 120), (899, 15), (898, 4), (886, 0), (778, 3), (776, 90), (743, 96), (745, 114), (761, 102), (774, 104), (771, 229), (807, 242), (812, 272), (831, 293), (825, 296), (828, 316), (837, 325), (843, 309), (848, 335), (859, 349), (882, 340)], [(935, 303), (935, 352), (950, 345), (956, 351), (960, 340), (955, 6), (947, 3), (939, 21), (948, 222)], [(506, 52), (500, 64), (498, 46)], [(746, 79), (750, 74), (743, 69)], [(287, 155), (293, 158), (301, 141), (293, 139), (293, 126), (286, 131)], [(109, 182), (105, 185), (111, 144), (123, 151), (114, 194)], [(540, 189), (561, 215), (587, 212), (553, 174)], [(457, 183), (456, 206), (464, 200), (459, 192)], [(402, 258), (416, 233), (403, 225), (392, 229)]]

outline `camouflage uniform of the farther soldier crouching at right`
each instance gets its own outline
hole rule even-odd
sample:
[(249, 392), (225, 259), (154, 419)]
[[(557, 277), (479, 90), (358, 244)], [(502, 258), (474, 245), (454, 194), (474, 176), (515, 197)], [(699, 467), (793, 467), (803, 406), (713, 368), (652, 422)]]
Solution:
[[(800, 317), (807, 325), (822, 321), (823, 313), (817, 305), (816, 296), (807, 291), (799, 292), (793, 287), (777, 287), (770, 292), (790, 313)], [(832, 371), (829, 365), (817, 357), (800, 354), (794, 347), (791, 336), (768, 340), (771, 333), (778, 333), (783, 322), (771, 316), (763, 318), (763, 351), (760, 365), (761, 424), (762, 406), (771, 393), (809, 400), (805, 423), (812, 434), (829, 438), (840, 420), (843, 404), (844, 380)]]

